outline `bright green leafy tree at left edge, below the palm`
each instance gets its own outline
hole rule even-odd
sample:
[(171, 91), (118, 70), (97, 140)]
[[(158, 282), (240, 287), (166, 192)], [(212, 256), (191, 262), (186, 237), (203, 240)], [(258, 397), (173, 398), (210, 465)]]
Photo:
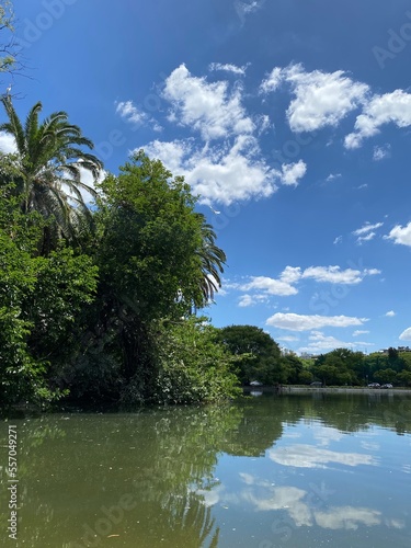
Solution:
[(89, 258), (67, 249), (36, 256), (44, 224), (35, 212), (23, 214), (18, 198), (1, 189), (1, 406), (58, 397), (58, 384), (49, 383), (50, 362), (56, 365), (72, 350), (76, 317), (95, 288)]

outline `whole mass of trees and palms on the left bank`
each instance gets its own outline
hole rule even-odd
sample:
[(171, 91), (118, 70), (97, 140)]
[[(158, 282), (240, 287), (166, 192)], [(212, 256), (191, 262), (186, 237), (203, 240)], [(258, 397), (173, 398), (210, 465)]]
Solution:
[(66, 113), (39, 122), (37, 103), (23, 125), (2, 103), (16, 151), (0, 157), (1, 406), (235, 395), (236, 358), (191, 319), (226, 255), (189, 185), (142, 151), (98, 184), (102, 164)]

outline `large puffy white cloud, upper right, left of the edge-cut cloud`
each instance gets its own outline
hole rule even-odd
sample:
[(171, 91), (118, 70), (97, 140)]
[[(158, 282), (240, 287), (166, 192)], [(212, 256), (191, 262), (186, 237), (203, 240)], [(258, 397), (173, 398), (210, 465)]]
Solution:
[(292, 85), (295, 99), (287, 110), (293, 132), (313, 132), (326, 126), (336, 126), (350, 112), (366, 101), (368, 85), (355, 82), (342, 70), (322, 72), (305, 71), (302, 65), (275, 68), (260, 90), (275, 91), (282, 81)]

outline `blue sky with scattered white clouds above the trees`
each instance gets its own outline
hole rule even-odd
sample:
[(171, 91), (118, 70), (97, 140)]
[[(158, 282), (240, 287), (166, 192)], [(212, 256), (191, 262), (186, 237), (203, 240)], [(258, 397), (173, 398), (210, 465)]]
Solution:
[(0, 93), (66, 111), (110, 172), (144, 148), (185, 176), (227, 254), (213, 324), (297, 354), (410, 344), (408, 1), (14, 3)]

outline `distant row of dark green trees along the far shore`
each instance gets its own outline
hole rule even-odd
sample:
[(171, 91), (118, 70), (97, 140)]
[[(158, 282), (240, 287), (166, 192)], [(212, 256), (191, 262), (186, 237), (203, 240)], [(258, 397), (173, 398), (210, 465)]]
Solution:
[(335, 349), (309, 359), (281, 351), (273, 339), (253, 326), (230, 326), (219, 338), (235, 355), (243, 357), (238, 377), (243, 385), (366, 386), (370, 383), (411, 387), (411, 352), (388, 349), (363, 354)]

